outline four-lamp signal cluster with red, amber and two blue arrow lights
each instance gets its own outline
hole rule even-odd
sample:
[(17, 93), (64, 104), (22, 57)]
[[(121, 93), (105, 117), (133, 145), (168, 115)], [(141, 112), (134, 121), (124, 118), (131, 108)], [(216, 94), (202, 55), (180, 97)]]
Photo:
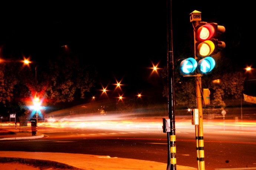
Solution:
[(223, 41), (219, 41), (219, 36), (225, 32), (224, 26), (217, 23), (198, 22), (194, 26), (194, 58), (179, 59), (178, 66), (180, 74), (190, 76), (199, 74), (209, 74), (215, 67), (215, 60), (211, 57), (226, 47)]

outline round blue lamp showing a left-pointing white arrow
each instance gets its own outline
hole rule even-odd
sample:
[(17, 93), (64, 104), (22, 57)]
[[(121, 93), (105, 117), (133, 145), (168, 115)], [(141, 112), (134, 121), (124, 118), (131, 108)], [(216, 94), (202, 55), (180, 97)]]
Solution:
[(196, 70), (197, 61), (194, 58), (182, 60), (180, 63), (180, 71), (182, 74), (191, 74)]

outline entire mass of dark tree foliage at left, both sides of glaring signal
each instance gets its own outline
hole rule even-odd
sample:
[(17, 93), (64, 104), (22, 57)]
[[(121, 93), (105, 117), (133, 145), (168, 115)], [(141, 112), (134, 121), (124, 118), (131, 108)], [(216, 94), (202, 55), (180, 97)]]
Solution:
[[(13, 57), (0, 64), (1, 116), (16, 114), (24, 121), (31, 113), (28, 106), (33, 104), (35, 95), (43, 100), (44, 106), (53, 106), (85, 98), (85, 92), (95, 83), (96, 70), (72, 53), (30, 65), (18, 60)], [(25, 126), (26, 121), (22, 125)]]

